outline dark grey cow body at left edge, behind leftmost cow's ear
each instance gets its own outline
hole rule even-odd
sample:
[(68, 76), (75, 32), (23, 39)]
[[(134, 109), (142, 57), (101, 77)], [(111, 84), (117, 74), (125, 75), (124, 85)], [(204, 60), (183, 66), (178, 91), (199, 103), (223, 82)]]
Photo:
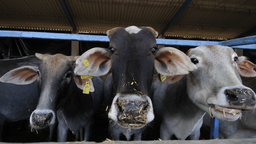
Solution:
[[(38, 66), (41, 60), (35, 56), (0, 60), (0, 76), (8, 71), (24, 66)], [(16, 85), (0, 82), (0, 141), (2, 141), (2, 127), (5, 122), (17, 122), (29, 119), (37, 105), (36, 82), (28, 85)]]

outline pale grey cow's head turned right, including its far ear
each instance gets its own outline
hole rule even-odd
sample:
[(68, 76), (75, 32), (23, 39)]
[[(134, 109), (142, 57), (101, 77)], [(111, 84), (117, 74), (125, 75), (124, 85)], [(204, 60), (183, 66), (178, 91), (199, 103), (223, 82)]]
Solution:
[(256, 65), (230, 47), (209, 45), (187, 52), (197, 66), (188, 75), (188, 94), (202, 110), (221, 120), (235, 121), (241, 110), (253, 110), (256, 96), (242, 85), (240, 75), (256, 76)]

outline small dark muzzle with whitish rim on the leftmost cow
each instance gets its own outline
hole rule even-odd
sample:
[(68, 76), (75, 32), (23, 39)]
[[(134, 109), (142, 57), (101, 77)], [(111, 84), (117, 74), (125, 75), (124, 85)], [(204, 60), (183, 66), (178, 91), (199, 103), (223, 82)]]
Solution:
[(30, 126), (35, 129), (46, 128), (55, 123), (55, 113), (52, 110), (35, 110), (30, 116)]

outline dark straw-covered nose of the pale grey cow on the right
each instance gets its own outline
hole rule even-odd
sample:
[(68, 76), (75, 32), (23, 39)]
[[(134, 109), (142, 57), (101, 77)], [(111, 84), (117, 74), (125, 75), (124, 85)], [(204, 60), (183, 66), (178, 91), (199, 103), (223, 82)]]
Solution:
[(226, 89), (228, 103), (236, 109), (253, 110), (256, 105), (255, 94), (250, 89)]

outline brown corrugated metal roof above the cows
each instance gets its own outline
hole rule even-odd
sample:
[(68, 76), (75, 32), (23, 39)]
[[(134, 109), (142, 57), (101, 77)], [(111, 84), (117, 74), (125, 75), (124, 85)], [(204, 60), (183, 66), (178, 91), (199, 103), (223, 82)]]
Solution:
[[(63, 0), (79, 33), (150, 26), (159, 33), (185, 0)], [(61, 0), (0, 0), (0, 29), (68, 31)], [(164, 35), (232, 39), (256, 34), (256, 0), (193, 0)], [(251, 30), (251, 33), (250, 33)], [(249, 36), (248, 35), (248, 36)]]

